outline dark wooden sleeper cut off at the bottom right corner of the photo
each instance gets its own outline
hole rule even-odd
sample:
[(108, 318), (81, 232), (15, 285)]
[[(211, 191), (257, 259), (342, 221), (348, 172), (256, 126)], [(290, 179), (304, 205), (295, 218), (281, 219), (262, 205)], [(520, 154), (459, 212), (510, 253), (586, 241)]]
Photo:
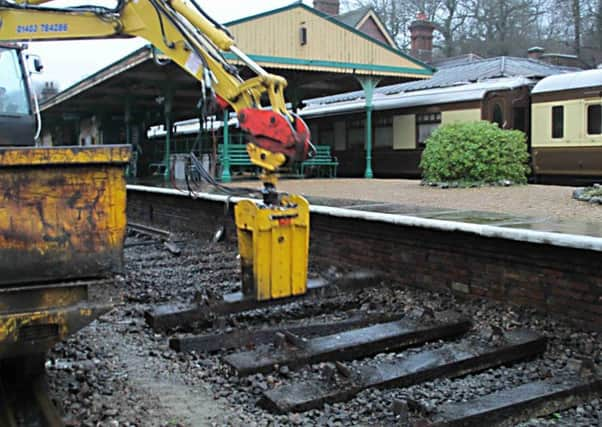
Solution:
[(443, 405), (414, 427), (511, 427), (551, 415), (602, 395), (602, 379), (551, 378), (462, 403)]

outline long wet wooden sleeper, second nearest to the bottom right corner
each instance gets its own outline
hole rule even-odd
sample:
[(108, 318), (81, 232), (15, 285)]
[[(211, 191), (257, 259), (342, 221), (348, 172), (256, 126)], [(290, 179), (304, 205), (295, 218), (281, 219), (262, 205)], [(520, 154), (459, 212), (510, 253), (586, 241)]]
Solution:
[(485, 343), (473, 337), (358, 369), (339, 364), (342, 378), (334, 376), (276, 387), (265, 391), (258, 403), (277, 413), (319, 409), (325, 403), (351, 400), (369, 388), (409, 387), (436, 378), (460, 377), (533, 358), (545, 352), (546, 344), (546, 338), (533, 331), (513, 330), (495, 343)]

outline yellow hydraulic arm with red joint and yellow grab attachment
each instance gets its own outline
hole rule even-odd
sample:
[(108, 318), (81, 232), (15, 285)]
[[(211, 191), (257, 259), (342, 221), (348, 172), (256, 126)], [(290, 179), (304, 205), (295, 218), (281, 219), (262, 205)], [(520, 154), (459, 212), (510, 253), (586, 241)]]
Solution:
[[(249, 134), (251, 161), (264, 169), (265, 185), (263, 203), (236, 206), (243, 293), (256, 300), (304, 294), (309, 207), (302, 197), (275, 190), (274, 172), (305, 160), (311, 147), (307, 126), (286, 109), (286, 80), (241, 52), (194, 0), (119, 0), (115, 9), (53, 9), (48, 2), (0, 0), (0, 41), (141, 37), (201, 82), (205, 102), (215, 99), (236, 111)], [(256, 77), (241, 79), (223, 52), (236, 55)], [(264, 98), (270, 109), (262, 108)]]

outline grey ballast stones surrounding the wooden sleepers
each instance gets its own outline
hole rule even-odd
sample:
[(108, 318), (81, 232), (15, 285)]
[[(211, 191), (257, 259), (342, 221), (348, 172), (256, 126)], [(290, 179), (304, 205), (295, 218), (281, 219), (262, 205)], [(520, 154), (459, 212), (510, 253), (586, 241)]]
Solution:
[[(128, 243), (140, 244), (138, 237)], [(47, 364), (51, 390), (70, 420), (85, 427), (196, 427), (196, 426), (373, 426), (400, 425), (393, 411), (397, 399), (411, 399), (424, 408), (448, 400), (458, 401), (509, 388), (550, 375), (570, 372), (571, 360), (593, 356), (600, 365), (602, 340), (596, 333), (576, 330), (562, 320), (484, 300), (458, 300), (451, 294), (395, 287), (363, 290), (339, 297), (289, 304), (269, 311), (232, 316), (229, 327), (274, 325), (300, 321), (301, 314), (332, 320), (361, 312), (398, 313), (413, 318), (423, 307), (435, 312), (454, 309), (475, 323), (473, 335), (491, 326), (503, 329), (530, 327), (550, 338), (545, 356), (535, 361), (490, 369), (457, 380), (436, 380), (407, 389), (367, 390), (348, 403), (326, 405), (322, 410), (274, 416), (256, 402), (264, 390), (311, 378), (319, 378), (325, 364), (298, 372), (281, 370), (271, 375), (239, 379), (222, 361), (223, 355), (178, 354), (167, 337), (155, 334), (143, 320), (154, 304), (190, 301), (198, 292), (220, 294), (238, 285), (236, 248), (191, 240), (181, 243), (175, 257), (161, 244), (126, 249), (126, 275), (115, 287), (103, 289), (116, 308), (50, 354)], [(336, 271), (312, 271), (312, 276)], [(320, 314), (320, 313), (325, 314)], [(441, 343), (432, 343), (436, 347)], [(412, 352), (415, 350), (408, 350)], [(377, 359), (402, 357), (379, 355)], [(350, 365), (374, 363), (372, 359)], [(330, 368), (332, 370), (332, 367)], [(599, 426), (599, 400), (525, 426)], [(412, 413), (412, 417), (418, 416)], [(403, 425), (403, 424), (401, 424)]]

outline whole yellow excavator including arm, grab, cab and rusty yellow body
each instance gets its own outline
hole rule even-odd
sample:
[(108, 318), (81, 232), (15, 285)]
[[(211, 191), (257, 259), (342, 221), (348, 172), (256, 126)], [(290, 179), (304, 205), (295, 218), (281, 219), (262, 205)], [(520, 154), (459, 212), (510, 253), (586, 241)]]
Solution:
[[(286, 80), (241, 52), (194, 1), (49, 3), (0, 0), (0, 367), (20, 372), (31, 362), (37, 372), (43, 352), (105, 310), (87, 301), (86, 280), (122, 268), (126, 225), (129, 150), (35, 146), (39, 111), (19, 43), (141, 37), (200, 82), (205, 111), (233, 109), (264, 186), (263, 200), (235, 208), (243, 294), (257, 301), (304, 294), (309, 206), (278, 193), (276, 183), (280, 168), (305, 160), (313, 147), (306, 124), (286, 108)], [(241, 78), (225, 52), (255, 76)], [(18, 426), (5, 397), (23, 380), (1, 376), (0, 425)], [(60, 426), (40, 389), (33, 390), (46, 425)]]

